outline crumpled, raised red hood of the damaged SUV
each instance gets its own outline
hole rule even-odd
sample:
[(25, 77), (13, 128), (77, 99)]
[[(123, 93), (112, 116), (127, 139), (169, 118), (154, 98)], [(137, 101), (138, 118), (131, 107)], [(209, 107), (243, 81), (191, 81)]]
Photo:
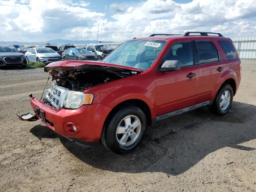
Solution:
[(52, 69), (55, 70), (71, 70), (71, 69), (82, 69), (82, 68), (90, 68), (90, 69), (101, 69), (101, 70), (117, 70), (117, 71), (134, 71), (134, 72), (142, 72), (142, 69), (120, 66), (110, 63), (105, 63), (102, 61), (57, 61), (52, 62), (44, 67), (44, 71), (48, 72)]

